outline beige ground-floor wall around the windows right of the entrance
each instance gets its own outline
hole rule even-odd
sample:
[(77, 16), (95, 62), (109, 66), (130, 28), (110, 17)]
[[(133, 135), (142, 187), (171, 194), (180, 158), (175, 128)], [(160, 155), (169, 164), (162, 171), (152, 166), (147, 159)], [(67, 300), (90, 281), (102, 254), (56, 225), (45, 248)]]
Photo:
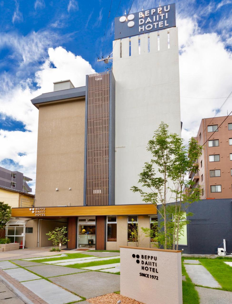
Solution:
[[(141, 230), (141, 227), (149, 228), (149, 224), (149, 216), (138, 216), (138, 225), (141, 232), (141, 242), (139, 247), (150, 247), (149, 237), (146, 237)], [(127, 216), (117, 216), (117, 242), (106, 242), (106, 250), (119, 250), (120, 246), (135, 246), (133, 243), (127, 242)]]

